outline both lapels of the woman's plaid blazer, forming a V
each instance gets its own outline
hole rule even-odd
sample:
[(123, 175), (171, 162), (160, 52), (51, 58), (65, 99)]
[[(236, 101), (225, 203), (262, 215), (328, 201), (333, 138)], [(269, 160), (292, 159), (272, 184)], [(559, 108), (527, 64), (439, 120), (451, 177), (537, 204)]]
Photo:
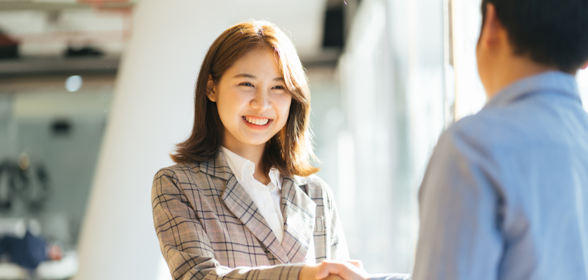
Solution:
[[(305, 193), (308, 177), (283, 176), (281, 210), (284, 220), (282, 244), (253, 200), (239, 184), (222, 152), (200, 163), (201, 170), (227, 181), (222, 200), (227, 208), (282, 263), (303, 262), (313, 238), (316, 203)], [(301, 188), (302, 187), (302, 188)]]

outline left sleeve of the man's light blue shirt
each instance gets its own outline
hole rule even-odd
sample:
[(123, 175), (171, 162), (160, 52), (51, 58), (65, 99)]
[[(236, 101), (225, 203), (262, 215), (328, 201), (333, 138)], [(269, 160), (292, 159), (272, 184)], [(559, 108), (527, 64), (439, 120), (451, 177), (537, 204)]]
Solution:
[(414, 280), (498, 279), (502, 255), (496, 165), (479, 141), (443, 134), (419, 192)]

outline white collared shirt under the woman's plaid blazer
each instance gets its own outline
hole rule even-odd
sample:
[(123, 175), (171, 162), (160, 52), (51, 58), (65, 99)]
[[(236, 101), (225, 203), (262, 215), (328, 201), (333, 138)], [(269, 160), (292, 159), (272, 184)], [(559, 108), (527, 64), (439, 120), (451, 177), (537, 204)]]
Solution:
[[(221, 146), (220, 151), (225, 154), (229, 167), (239, 184), (245, 189), (246, 193), (251, 197), (255, 206), (260, 209), (263, 218), (272, 229), (276, 238), (282, 243), (283, 239), (283, 215), (280, 209), (282, 196), (282, 180), (278, 169), (269, 169), (270, 182), (266, 185), (260, 183), (253, 178), (255, 172), (255, 163), (246, 158), (229, 151), (229, 149)], [(316, 255), (314, 253), (314, 238), (310, 239), (309, 248), (305, 257), (305, 263), (316, 263)]]

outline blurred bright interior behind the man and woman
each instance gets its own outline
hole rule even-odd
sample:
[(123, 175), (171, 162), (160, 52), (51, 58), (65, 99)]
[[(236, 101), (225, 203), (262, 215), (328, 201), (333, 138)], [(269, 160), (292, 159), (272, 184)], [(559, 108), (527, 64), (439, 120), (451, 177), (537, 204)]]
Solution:
[[(319, 176), (351, 257), (368, 272), (410, 272), (436, 139), (486, 102), (479, 6), (0, 0), (0, 280), (170, 279), (152, 178), (189, 135), (206, 50), (248, 19), (274, 22), (298, 49)], [(588, 73), (577, 80), (586, 99)], [(44, 250), (27, 261), (23, 246)]]

